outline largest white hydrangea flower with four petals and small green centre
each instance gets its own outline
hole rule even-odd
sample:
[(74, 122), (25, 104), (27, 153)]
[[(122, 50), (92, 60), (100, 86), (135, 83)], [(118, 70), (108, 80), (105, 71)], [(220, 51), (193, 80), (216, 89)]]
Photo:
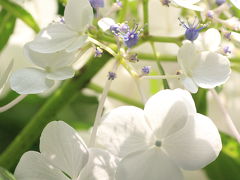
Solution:
[(196, 112), (186, 90), (162, 90), (144, 110), (122, 106), (108, 113), (97, 141), (122, 159), (116, 180), (181, 180), (180, 168), (196, 170), (222, 148), (216, 126)]

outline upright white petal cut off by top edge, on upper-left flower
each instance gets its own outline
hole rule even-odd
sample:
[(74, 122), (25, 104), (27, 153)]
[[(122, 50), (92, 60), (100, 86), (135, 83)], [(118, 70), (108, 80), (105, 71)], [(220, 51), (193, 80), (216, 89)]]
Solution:
[(64, 19), (73, 30), (84, 31), (93, 20), (93, 9), (89, 0), (68, 0)]

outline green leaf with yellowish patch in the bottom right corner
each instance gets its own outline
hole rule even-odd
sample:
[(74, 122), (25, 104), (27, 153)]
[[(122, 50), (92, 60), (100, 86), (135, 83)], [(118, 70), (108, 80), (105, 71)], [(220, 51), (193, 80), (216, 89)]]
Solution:
[(223, 149), (216, 161), (206, 171), (210, 180), (240, 179), (240, 144), (232, 137), (221, 133)]

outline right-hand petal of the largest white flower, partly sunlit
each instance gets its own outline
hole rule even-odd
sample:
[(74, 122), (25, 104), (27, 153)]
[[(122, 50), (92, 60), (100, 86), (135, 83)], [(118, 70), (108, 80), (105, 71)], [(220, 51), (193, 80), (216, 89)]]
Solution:
[(186, 126), (162, 144), (169, 156), (187, 170), (205, 167), (217, 158), (222, 149), (216, 126), (201, 114), (189, 116)]

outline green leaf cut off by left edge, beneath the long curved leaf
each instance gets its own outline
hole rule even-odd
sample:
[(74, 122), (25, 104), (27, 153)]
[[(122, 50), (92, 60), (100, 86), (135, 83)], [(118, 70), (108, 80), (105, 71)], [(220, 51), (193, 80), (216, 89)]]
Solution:
[(2, 9), (0, 12), (0, 52), (8, 42), (9, 37), (13, 33), (16, 18), (11, 13)]

